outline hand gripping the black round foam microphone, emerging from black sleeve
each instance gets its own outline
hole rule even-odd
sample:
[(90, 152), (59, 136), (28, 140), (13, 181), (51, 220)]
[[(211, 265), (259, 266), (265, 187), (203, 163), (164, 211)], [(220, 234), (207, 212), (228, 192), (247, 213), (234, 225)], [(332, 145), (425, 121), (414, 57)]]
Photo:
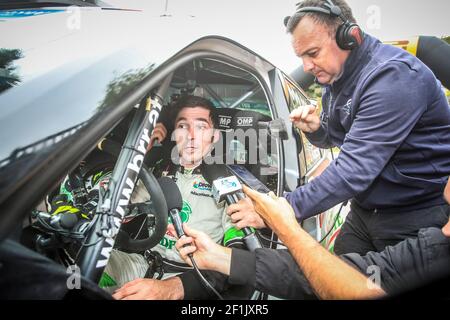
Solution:
[[(231, 249), (215, 243), (206, 233), (191, 229), (183, 224), (185, 237), (180, 238), (175, 247), (183, 260), (192, 266), (189, 254), (194, 255), (197, 266), (202, 270), (215, 270), (230, 274)], [(188, 245), (184, 247), (185, 245)]]

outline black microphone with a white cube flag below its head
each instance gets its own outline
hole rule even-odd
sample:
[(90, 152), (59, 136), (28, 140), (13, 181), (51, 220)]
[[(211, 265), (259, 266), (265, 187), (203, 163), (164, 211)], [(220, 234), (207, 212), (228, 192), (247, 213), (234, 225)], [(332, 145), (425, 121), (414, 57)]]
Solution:
[[(238, 178), (230, 174), (225, 165), (206, 166), (203, 176), (211, 184), (214, 200), (218, 204), (226, 201), (230, 205), (245, 198)], [(242, 231), (245, 234), (245, 244), (250, 251), (262, 248), (258, 237), (249, 227), (242, 228)]]

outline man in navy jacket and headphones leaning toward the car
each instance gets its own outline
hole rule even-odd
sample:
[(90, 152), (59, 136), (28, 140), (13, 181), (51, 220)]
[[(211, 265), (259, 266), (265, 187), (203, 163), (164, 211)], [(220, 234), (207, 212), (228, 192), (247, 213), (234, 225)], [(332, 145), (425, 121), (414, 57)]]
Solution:
[(364, 34), (343, 0), (307, 0), (285, 19), (295, 53), (323, 86), (290, 117), (308, 140), (340, 148), (323, 174), (286, 198), (298, 220), (352, 199), (336, 254), (381, 251), (442, 227), (450, 173), (450, 108), (420, 60)]

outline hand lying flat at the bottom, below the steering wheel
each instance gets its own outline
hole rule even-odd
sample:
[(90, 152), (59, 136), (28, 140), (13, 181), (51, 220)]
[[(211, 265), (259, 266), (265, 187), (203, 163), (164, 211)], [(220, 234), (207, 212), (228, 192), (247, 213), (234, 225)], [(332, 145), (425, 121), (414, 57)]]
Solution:
[(184, 289), (181, 279), (136, 279), (124, 284), (113, 294), (116, 300), (181, 300)]

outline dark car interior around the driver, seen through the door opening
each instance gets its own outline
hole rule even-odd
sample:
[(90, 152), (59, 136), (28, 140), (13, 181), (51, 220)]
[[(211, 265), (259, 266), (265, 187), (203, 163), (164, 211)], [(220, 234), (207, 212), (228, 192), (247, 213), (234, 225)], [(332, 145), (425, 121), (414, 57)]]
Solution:
[[(133, 203), (133, 200), (130, 202), (116, 238), (117, 249), (143, 253), (156, 245), (166, 231), (167, 208), (164, 203), (158, 203), (161, 202), (161, 194), (154, 189), (157, 182), (153, 174), (148, 173), (154, 171), (164, 158), (170, 159), (175, 146), (170, 139), (173, 130), (168, 119), (170, 112), (164, 110), (170, 110), (177, 99), (187, 94), (207, 98), (216, 107), (221, 138), (211, 154), (215, 161), (244, 167), (269, 190), (275, 193), (278, 191), (278, 136), (276, 130), (272, 130), (270, 102), (257, 77), (217, 59), (194, 59), (173, 72), (167, 92), (167, 104), (163, 106), (158, 120), (165, 124), (168, 135), (147, 153), (141, 170), (144, 173), (139, 175), (138, 183), (144, 184), (150, 200), (143, 203)], [(105, 192), (93, 187), (96, 179), (93, 173), (113, 170), (138, 107), (139, 105), (134, 106), (30, 213), (24, 222), (22, 244), (66, 267), (77, 263), (82, 256), (80, 252), (86, 245), (84, 235), (97, 212), (99, 197)], [(73, 194), (72, 199), (60, 195), (63, 188)], [(107, 189), (107, 186), (104, 188)], [(60, 205), (61, 201), (73, 206), (74, 213), (81, 214), (82, 217), (78, 220), (64, 218), (53, 221), (51, 217), (55, 214), (54, 207)], [(164, 210), (165, 215), (158, 213)], [(264, 246), (275, 246), (276, 236), (271, 230), (261, 230), (259, 235)], [(264, 298), (260, 293), (255, 294), (253, 290), (241, 287), (232, 288), (225, 296), (234, 299)]]

